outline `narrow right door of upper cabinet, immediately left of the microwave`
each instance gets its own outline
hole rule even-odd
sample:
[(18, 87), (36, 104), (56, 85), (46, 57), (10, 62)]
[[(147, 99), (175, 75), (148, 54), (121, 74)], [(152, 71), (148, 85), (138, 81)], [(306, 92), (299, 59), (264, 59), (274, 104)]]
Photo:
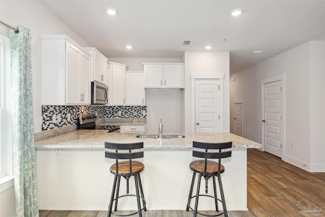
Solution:
[(80, 55), (80, 96), (84, 104), (91, 103), (90, 94), (90, 61), (91, 58), (84, 53)]

